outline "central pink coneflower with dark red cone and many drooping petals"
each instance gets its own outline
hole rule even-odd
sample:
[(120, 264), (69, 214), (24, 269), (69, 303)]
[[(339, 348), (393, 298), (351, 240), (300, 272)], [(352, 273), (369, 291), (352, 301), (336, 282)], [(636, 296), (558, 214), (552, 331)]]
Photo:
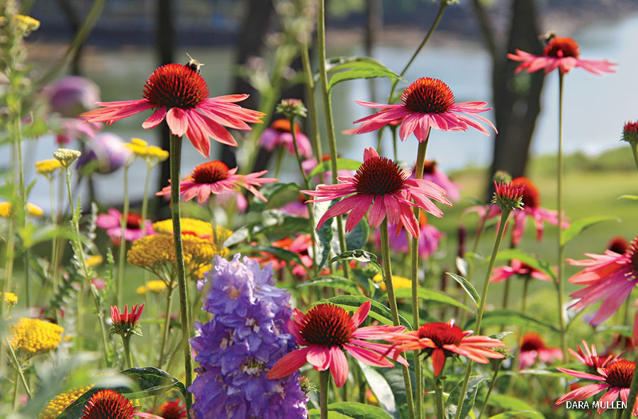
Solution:
[(452, 203), (444, 198), (445, 191), (440, 186), (423, 179), (408, 179), (410, 173), (409, 170), (401, 170), (392, 160), (379, 157), (374, 148), (370, 147), (365, 150), (364, 162), (354, 177), (340, 176), (337, 177), (339, 184), (320, 185), (316, 191), (302, 192), (318, 198), (310, 202), (331, 201), (346, 196), (325, 212), (317, 228), (328, 218), (352, 210), (345, 225), (346, 231), (351, 231), (370, 209), (368, 222), (374, 228), (379, 228), (387, 217), (388, 223), (397, 225), (397, 230), (405, 226), (408, 233), (417, 236), (419, 223), (414, 216), (413, 207), (440, 218), (443, 212), (430, 199), (449, 206)]

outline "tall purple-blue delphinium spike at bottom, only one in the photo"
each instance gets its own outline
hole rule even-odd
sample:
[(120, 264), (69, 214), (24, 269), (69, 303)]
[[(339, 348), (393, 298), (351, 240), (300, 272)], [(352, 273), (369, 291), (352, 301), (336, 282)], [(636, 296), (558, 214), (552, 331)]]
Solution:
[(192, 411), (205, 418), (307, 418), (308, 397), (298, 372), (266, 379), (273, 364), (295, 347), (286, 323), (291, 317), (290, 294), (274, 286), (272, 268), (235, 255), (216, 257), (213, 269), (197, 288), (208, 289), (203, 310), (213, 314), (197, 322), (191, 339), (199, 367), (189, 391)]

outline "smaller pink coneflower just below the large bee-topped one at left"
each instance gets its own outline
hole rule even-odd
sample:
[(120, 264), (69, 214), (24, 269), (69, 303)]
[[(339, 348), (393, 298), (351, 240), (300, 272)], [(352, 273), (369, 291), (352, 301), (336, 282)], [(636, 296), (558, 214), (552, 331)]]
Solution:
[[(277, 179), (260, 177), (267, 172), (267, 170), (262, 170), (262, 172), (251, 174), (237, 174), (237, 167), (228, 169), (228, 166), (223, 162), (213, 160), (212, 162), (199, 164), (189, 177), (179, 182), (179, 193), (184, 201), (190, 201), (197, 197), (198, 203), (204, 203), (208, 201), (211, 194), (218, 195), (235, 192), (237, 194), (237, 200), (239, 201), (239, 196), (241, 196), (239, 187), (243, 186), (251, 191), (254, 196), (258, 196), (260, 199), (267, 201), (254, 187), (277, 181)], [(171, 195), (171, 186), (166, 186), (157, 192), (157, 196), (164, 195)], [(241, 199), (244, 199), (243, 196)], [(242, 202), (237, 202), (237, 204), (242, 206)]]

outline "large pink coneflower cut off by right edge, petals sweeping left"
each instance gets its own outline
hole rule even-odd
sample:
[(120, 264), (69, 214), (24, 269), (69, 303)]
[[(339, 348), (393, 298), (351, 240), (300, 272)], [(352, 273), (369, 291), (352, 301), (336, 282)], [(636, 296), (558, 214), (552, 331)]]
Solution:
[(572, 284), (587, 285), (570, 295), (571, 298), (579, 298), (571, 307), (581, 310), (604, 299), (590, 322), (591, 325), (598, 325), (617, 311), (638, 284), (638, 237), (622, 255), (611, 250), (605, 250), (604, 255), (585, 255), (591, 259), (567, 259), (572, 265), (586, 267), (569, 279)]

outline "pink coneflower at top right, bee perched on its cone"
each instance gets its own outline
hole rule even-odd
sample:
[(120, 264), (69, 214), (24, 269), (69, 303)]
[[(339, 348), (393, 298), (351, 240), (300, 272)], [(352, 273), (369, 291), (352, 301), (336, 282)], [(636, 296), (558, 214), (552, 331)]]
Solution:
[(526, 69), (527, 72), (533, 73), (539, 69), (545, 69), (545, 74), (558, 68), (561, 74), (569, 72), (573, 67), (582, 67), (593, 74), (601, 74), (603, 72), (612, 73), (613, 62), (608, 60), (581, 60), (578, 58), (578, 44), (571, 38), (551, 38), (543, 55), (533, 55), (529, 52), (516, 50), (516, 54), (508, 54), (508, 58), (514, 61), (520, 61), (515, 73)]

